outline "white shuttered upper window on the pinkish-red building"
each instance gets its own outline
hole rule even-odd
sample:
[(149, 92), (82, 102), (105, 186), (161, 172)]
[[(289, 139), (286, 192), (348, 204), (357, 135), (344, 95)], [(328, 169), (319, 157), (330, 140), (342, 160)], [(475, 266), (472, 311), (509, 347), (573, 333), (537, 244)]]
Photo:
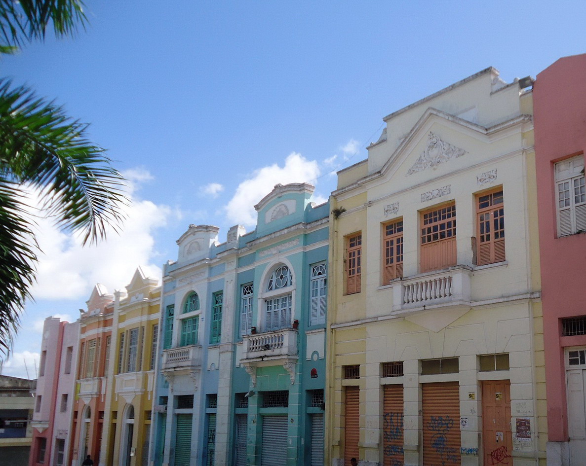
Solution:
[(554, 165), (557, 235), (586, 231), (586, 181), (584, 154)]

